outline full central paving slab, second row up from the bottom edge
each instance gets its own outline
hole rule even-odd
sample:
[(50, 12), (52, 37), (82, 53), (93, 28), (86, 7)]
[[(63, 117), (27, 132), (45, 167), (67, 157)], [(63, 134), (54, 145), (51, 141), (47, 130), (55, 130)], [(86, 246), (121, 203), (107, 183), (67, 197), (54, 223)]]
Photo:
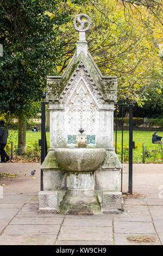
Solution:
[(62, 226), (58, 240), (112, 241), (112, 227)]

